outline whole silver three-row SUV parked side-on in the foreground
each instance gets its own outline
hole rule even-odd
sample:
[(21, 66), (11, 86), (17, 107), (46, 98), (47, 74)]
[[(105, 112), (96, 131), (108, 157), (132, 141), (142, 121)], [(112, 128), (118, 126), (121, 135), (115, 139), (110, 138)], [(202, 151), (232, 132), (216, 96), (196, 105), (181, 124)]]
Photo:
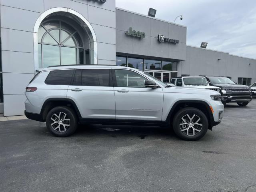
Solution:
[(134, 68), (76, 65), (44, 68), (26, 87), (26, 117), (55, 136), (80, 124), (171, 126), (198, 140), (220, 123), (224, 106), (212, 90), (171, 87)]

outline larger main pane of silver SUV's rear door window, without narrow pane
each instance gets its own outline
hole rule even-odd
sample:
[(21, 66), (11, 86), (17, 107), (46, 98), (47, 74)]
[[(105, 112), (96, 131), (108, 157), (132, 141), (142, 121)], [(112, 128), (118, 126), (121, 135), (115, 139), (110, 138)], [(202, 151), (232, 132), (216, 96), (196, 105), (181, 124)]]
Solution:
[(82, 86), (110, 86), (109, 69), (83, 69)]

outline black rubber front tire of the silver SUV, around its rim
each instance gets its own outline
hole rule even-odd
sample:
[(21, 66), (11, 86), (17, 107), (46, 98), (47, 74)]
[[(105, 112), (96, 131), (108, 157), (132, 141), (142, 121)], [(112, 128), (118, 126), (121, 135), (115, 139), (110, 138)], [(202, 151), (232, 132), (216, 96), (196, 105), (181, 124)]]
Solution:
[[(190, 119), (192, 119), (192, 121), (188, 118), (187, 115), (190, 116)], [(192, 118), (193, 116), (194, 118)], [(182, 118), (186, 122), (184, 122)], [(194, 124), (197, 122), (199, 118), (200, 120), (198, 121), (198, 124), (202, 126), (199, 126), (198, 124)], [(193, 123), (193, 125), (188, 122)], [(184, 124), (184, 125), (180, 125), (180, 124)], [(194, 130), (194, 128), (198, 131)], [(176, 133), (176, 135), (183, 140), (196, 141), (202, 138), (206, 134), (208, 130), (208, 118), (201, 110), (197, 108), (193, 108), (193, 107), (183, 108), (179, 110), (173, 118), (173, 130)]]

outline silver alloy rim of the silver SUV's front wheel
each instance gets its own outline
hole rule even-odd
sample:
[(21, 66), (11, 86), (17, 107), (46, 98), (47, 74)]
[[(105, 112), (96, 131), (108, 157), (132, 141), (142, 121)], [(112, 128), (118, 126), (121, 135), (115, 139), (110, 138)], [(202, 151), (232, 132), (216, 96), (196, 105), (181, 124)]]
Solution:
[(202, 127), (201, 118), (196, 114), (186, 114), (180, 120), (180, 130), (187, 136), (195, 136)]

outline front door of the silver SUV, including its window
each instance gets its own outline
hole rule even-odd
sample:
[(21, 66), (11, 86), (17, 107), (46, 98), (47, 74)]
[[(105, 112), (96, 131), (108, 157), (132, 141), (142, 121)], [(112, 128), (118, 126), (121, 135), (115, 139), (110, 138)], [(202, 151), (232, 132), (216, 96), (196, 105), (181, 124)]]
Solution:
[(162, 120), (162, 88), (146, 88), (146, 77), (133, 70), (113, 69), (116, 119)]

